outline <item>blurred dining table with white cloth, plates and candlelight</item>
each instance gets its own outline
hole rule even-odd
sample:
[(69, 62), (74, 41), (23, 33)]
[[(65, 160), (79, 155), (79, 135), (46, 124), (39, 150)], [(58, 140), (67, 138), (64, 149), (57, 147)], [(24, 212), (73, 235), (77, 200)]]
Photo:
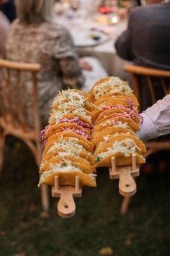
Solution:
[(99, 12), (83, 15), (79, 11), (68, 10), (62, 14), (54, 12), (53, 22), (68, 28), (79, 56), (95, 56), (102, 61), (110, 76), (129, 80), (129, 74), (123, 67), (130, 61), (121, 59), (115, 49), (115, 40), (126, 29), (128, 18), (120, 19), (115, 14), (109, 14), (111, 22), (107, 24), (105, 17)]

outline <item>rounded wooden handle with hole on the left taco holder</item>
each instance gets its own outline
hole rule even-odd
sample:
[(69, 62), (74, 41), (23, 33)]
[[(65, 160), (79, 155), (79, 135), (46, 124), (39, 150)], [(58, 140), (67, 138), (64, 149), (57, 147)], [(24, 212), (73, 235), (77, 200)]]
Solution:
[(76, 205), (73, 200), (73, 187), (62, 187), (57, 208), (58, 215), (63, 218), (69, 218), (74, 215)]

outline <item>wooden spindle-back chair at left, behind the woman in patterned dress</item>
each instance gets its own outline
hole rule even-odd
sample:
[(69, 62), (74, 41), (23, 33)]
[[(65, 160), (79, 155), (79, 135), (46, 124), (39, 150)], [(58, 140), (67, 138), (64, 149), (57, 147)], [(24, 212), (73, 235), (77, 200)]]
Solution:
[[(42, 142), (38, 106), (37, 72), (40, 64), (26, 64), (0, 59), (0, 172), (3, 164), (6, 135), (25, 142), (37, 166), (40, 165)], [(24, 80), (23, 80), (24, 77)], [(27, 78), (29, 77), (29, 84)], [(26, 84), (29, 85), (27, 93)], [(28, 104), (30, 106), (28, 108)], [(30, 115), (31, 121), (27, 120)], [(48, 187), (40, 187), (42, 208), (48, 210)]]

